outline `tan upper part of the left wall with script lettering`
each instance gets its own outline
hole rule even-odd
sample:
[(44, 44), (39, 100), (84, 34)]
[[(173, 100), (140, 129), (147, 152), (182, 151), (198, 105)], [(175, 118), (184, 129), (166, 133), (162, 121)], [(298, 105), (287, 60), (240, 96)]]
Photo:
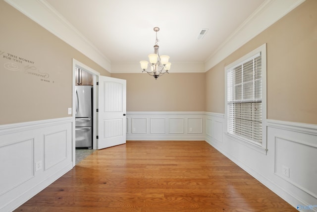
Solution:
[(0, 125), (71, 116), (72, 58), (110, 76), (2, 0), (0, 29)]

